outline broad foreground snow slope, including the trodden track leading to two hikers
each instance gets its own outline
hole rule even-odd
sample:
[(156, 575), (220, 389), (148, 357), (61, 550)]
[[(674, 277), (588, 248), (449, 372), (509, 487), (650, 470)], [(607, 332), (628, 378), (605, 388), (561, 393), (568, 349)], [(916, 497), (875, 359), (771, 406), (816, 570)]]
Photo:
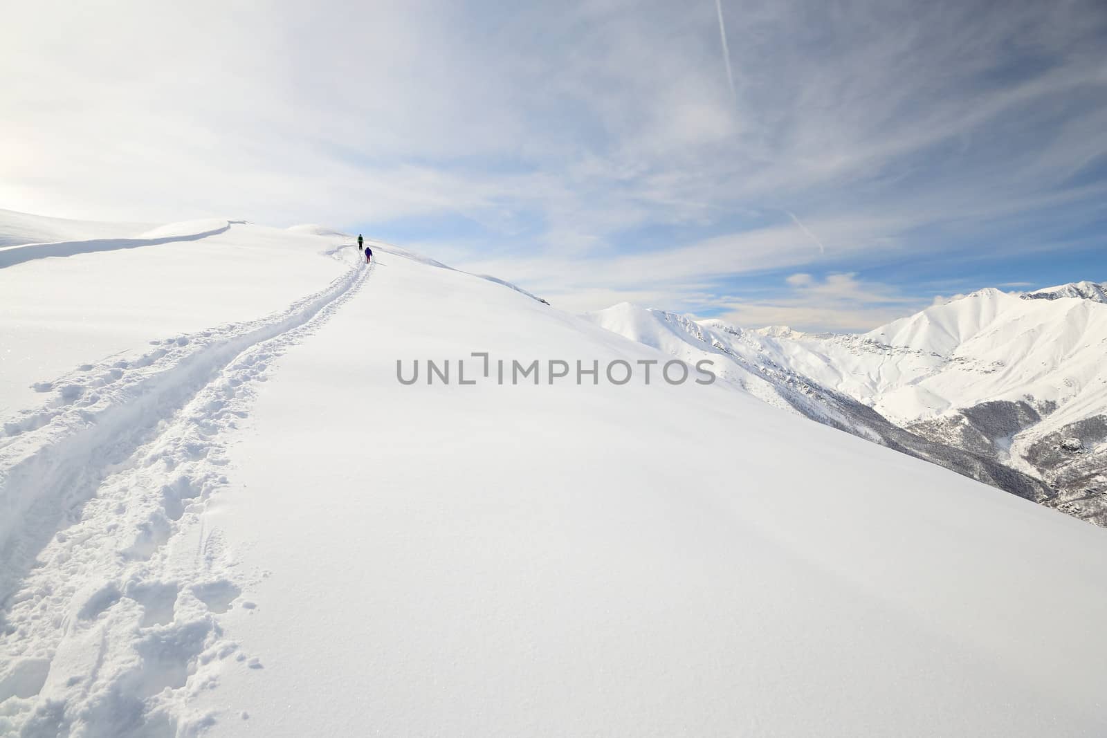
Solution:
[[(737, 367), (614, 384), (671, 346), (322, 251), (313, 292), (86, 356), (103, 385), (3, 438), (0, 732), (1107, 730), (1103, 531), (769, 407)], [(414, 360), (452, 382), (401, 384)]]

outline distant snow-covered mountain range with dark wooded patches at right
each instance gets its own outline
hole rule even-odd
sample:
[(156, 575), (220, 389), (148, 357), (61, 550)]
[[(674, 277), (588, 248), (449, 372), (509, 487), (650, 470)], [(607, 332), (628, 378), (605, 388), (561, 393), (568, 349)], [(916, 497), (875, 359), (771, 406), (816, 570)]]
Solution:
[[(593, 319), (673, 355), (725, 354), (773, 404), (1107, 524), (1107, 304), (1088, 285), (981, 290), (861, 335), (613, 318), (627, 305)], [(797, 387), (814, 407), (790, 398)]]

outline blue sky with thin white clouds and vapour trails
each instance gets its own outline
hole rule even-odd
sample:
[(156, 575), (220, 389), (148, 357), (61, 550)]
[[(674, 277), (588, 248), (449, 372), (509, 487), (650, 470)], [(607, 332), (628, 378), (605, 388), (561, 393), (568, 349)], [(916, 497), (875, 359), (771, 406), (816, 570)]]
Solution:
[(0, 207), (323, 222), (569, 310), (865, 330), (1107, 280), (1105, 49), (1097, 1), (22, 3)]

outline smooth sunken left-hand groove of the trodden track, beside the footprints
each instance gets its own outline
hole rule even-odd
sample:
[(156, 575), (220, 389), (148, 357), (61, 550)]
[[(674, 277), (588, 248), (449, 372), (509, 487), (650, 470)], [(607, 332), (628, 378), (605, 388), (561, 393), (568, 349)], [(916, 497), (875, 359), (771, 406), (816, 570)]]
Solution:
[(364, 282), (359, 266), (265, 318), (174, 336), (135, 361), (82, 367), (51, 383), (54, 398), (0, 434), (0, 612), (19, 574), (110, 474), (125, 468), (167, 420), (251, 351), (325, 320)]

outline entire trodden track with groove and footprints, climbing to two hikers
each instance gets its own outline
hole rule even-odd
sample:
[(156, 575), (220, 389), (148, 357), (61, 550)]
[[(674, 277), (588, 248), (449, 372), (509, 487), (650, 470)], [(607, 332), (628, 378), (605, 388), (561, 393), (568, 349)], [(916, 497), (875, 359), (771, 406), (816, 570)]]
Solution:
[[(374, 268), (266, 318), (83, 365), (4, 419), (0, 735), (190, 735), (213, 717), (188, 714), (186, 692), (213, 686), (227, 658), (261, 667), (216, 615), (262, 573), (237, 570), (200, 513), (228, 482), (226, 432), (254, 383)], [(193, 539), (183, 567), (168, 544)]]

